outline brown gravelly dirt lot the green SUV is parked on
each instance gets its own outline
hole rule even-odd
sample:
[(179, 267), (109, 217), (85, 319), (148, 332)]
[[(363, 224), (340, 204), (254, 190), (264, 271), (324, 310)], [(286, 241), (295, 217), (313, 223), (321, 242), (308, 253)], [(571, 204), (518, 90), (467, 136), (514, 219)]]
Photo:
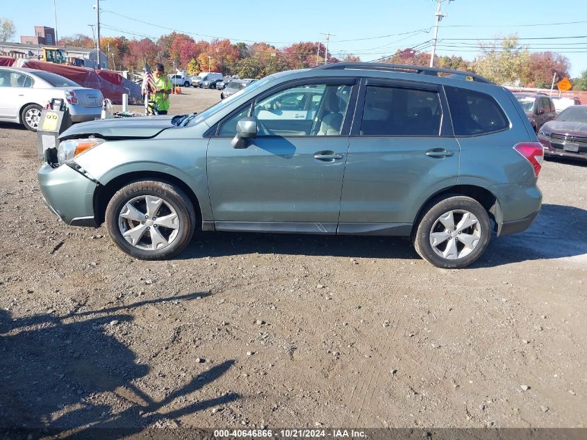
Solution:
[[(219, 92), (172, 96), (198, 110)], [(173, 261), (42, 204), (0, 125), (0, 420), (98, 427), (585, 427), (587, 166), (466, 270), (402, 239), (200, 234)], [(2, 423), (0, 423), (2, 425)]]

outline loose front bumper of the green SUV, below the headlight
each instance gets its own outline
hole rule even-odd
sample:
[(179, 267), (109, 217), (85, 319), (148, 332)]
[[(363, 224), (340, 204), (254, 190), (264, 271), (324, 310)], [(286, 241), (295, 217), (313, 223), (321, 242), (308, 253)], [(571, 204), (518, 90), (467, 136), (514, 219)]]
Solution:
[(51, 168), (48, 163), (40, 168), (37, 176), (43, 202), (55, 215), (69, 225), (97, 227), (94, 182), (67, 165)]

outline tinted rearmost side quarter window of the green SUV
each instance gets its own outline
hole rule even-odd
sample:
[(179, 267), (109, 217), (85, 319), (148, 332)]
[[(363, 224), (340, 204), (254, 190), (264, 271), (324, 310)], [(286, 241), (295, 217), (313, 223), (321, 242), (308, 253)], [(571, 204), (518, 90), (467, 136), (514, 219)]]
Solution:
[(509, 129), (497, 101), (486, 93), (445, 86), (455, 136), (478, 136)]

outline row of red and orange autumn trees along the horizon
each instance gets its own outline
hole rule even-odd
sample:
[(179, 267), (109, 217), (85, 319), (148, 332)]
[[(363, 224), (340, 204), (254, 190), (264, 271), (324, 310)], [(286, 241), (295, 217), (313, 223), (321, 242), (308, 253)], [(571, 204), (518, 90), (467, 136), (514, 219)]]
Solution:
[[(360, 60), (353, 54), (342, 59), (326, 54), (326, 47), (320, 42), (298, 42), (276, 48), (264, 42), (196, 41), (190, 35), (177, 32), (158, 40), (103, 37), (100, 44), (113, 70), (140, 71), (145, 64), (163, 63), (167, 72), (175, 67), (191, 75), (210, 71), (238, 74), (241, 78), (262, 78), (283, 70), (321, 65), (325, 58), (328, 63)], [(58, 45), (94, 47), (95, 42), (88, 35), (76, 34), (61, 38)], [(454, 55), (435, 56), (434, 65), (475, 72), (497, 84), (513, 86), (550, 88), (554, 74), (556, 81), (570, 77), (568, 58), (552, 51), (530, 52), (527, 46), (520, 44), (516, 34), (491, 42), (479, 41), (477, 48), (481, 54), (472, 61)], [(430, 54), (408, 47), (380, 58), (379, 62), (427, 66)], [(587, 90), (587, 70), (571, 79), (571, 83), (572, 90)]]

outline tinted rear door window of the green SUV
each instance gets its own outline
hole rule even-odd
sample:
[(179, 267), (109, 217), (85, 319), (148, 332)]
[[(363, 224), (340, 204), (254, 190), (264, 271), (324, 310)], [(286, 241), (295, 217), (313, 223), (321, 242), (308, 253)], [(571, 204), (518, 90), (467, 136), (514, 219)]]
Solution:
[(440, 136), (438, 92), (367, 85), (362, 136)]

